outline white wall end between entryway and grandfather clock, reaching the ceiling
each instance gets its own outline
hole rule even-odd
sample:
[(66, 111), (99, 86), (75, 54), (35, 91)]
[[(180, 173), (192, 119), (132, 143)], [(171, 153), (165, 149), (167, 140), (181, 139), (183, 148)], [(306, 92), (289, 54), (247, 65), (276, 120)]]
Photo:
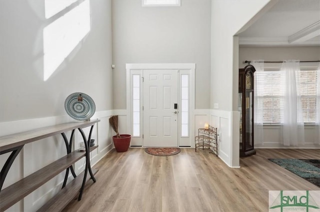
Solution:
[[(211, 2), (211, 115), (223, 120), (220, 158), (239, 166), (237, 112), (238, 38), (234, 36), (269, 0), (213, 0)], [(214, 107), (216, 106), (216, 107)], [(224, 119), (228, 120), (224, 120)], [(211, 117), (211, 122), (213, 122)], [(221, 127), (222, 129), (222, 127)]]

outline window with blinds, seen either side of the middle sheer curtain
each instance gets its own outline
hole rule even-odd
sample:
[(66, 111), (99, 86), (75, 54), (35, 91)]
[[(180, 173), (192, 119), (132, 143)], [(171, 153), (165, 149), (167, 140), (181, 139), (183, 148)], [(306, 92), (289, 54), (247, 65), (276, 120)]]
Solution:
[[(258, 98), (262, 98), (263, 123), (283, 122), (284, 76), (279, 70), (265, 70), (255, 73), (257, 89), (261, 89)], [(301, 95), (304, 123), (315, 123), (316, 118), (316, 83), (318, 80), (315, 69), (302, 69), (296, 75)]]

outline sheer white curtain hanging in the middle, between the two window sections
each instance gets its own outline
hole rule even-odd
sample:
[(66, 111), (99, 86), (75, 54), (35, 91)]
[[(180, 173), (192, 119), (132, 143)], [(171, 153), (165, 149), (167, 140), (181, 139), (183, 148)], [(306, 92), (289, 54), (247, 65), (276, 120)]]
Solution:
[(283, 145), (298, 146), (304, 144), (304, 123), (299, 94), (299, 81), (296, 77), (300, 71), (298, 60), (284, 60), (281, 73), (284, 76), (283, 101)]

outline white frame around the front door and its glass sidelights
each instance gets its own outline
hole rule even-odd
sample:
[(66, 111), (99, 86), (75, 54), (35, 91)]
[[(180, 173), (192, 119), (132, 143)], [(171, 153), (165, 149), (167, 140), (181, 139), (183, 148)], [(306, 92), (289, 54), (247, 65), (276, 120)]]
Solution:
[[(132, 111), (132, 75), (140, 75), (140, 85), (142, 85), (142, 72), (147, 69), (170, 69), (178, 70), (179, 80), (182, 74), (187, 74), (189, 76), (189, 122), (188, 122), (188, 136), (181, 136), (181, 113), (179, 110), (179, 127), (178, 127), (178, 146), (192, 147), (194, 143), (194, 82), (195, 82), (195, 63), (127, 63), (125, 64), (126, 69), (126, 115), (127, 115), (127, 130), (128, 133), (133, 135), (133, 111)], [(140, 86), (140, 102), (143, 101), (143, 96)], [(179, 85), (179, 90), (180, 90)], [(181, 98), (179, 97), (179, 105), (181, 104)], [(142, 105), (140, 104), (140, 135), (132, 136), (131, 146), (142, 146)], [(192, 143), (193, 142), (193, 143)]]

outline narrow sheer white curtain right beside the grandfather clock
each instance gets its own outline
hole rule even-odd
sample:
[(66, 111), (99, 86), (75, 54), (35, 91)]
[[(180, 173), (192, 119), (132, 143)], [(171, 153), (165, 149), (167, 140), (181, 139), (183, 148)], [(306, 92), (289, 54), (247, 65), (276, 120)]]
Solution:
[(255, 68), (254, 72), (254, 125), (253, 141), (254, 144), (263, 145), (263, 70), (264, 60), (252, 60), (251, 65)]

